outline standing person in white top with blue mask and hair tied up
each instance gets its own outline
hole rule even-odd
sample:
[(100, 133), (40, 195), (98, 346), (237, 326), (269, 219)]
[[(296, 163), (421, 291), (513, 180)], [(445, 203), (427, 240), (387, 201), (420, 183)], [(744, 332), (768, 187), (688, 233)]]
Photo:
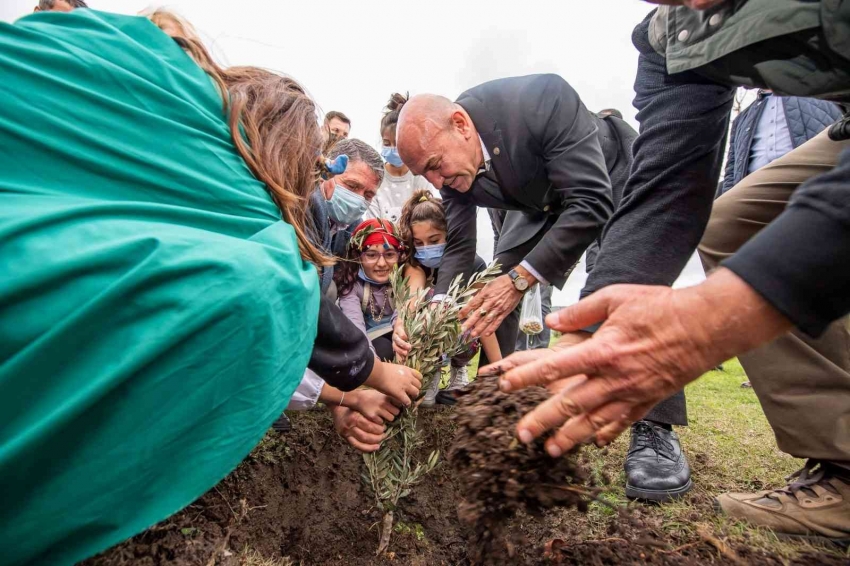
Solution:
[(439, 197), (431, 183), (425, 177), (411, 173), (398, 156), (395, 145), (396, 125), (405, 102), (406, 95), (395, 93), (387, 103), (381, 120), (381, 156), (386, 161), (384, 180), (364, 218), (386, 218), (390, 222), (398, 223), (404, 203), (415, 191), (428, 189), (434, 196)]

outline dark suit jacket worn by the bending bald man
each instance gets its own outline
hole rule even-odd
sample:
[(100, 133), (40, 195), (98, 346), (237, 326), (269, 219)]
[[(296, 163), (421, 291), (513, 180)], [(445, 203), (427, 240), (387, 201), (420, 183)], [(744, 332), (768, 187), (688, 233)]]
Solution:
[[(491, 81), (464, 92), (457, 103), (490, 154), (490, 171), (466, 193), (440, 191), (448, 236), (435, 292), (444, 293), (458, 273), (470, 275), (478, 206), (551, 218), (525, 260), (563, 286), (613, 210), (597, 119), (557, 75)], [(505, 271), (513, 267), (503, 265)]]

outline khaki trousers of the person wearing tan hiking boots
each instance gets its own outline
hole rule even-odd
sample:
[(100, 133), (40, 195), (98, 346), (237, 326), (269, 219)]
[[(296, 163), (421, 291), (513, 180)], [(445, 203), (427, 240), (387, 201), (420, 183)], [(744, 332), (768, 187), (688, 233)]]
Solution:
[[(835, 167), (848, 147), (823, 132), (717, 199), (699, 245), (706, 273), (776, 219), (801, 184)], [(818, 339), (794, 331), (739, 359), (782, 451), (850, 467), (848, 318)]]

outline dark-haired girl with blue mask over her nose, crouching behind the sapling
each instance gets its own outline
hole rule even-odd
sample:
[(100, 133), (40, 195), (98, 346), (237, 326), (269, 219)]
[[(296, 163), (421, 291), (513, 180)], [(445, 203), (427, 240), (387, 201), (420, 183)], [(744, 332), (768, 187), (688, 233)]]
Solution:
[[(399, 233), (412, 252), (411, 258), (404, 267), (404, 276), (408, 278), (413, 293), (422, 288), (431, 287), (436, 280), (443, 250), (446, 247), (446, 231), (446, 213), (442, 201), (435, 198), (428, 190), (414, 192), (404, 205), (399, 219)], [(485, 267), (487, 267), (485, 261), (476, 255), (474, 271), (483, 271)], [(393, 328), (392, 345), (399, 359), (404, 359), (410, 351), (404, 327), (398, 322)], [(494, 356), (491, 359), (502, 359), (495, 335), (481, 338), (480, 346), (484, 348), (488, 358)], [(432, 387), (422, 402), (424, 406), (434, 405), (434, 403), (446, 405), (455, 403), (454, 394), (451, 392), (469, 384), (467, 366), (478, 352), (478, 348), (479, 342), (475, 340), (470, 343), (466, 352), (452, 358), (449, 385), (445, 391), (439, 391), (440, 380), (432, 380)]]

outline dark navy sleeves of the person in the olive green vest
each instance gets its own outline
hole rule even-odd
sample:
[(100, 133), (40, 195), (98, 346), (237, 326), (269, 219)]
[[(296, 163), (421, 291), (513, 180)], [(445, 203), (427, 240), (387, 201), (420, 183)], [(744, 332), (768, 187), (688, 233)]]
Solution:
[[(831, 4), (850, 10), (850, 0)], [(850, 12), (847, 15), (850, 17)], [(616, 283), (671, 285), (681, 273), (711, 213), (734, 77), (779, 78), (790, 94), (813, 88), (801, 84), (796, 89), (790, 68), (786, 73), (780, 71), (787, 63), (781, 57), (794, 37), (776, 37), (749, 46), (714, 62), (710, 72), (699, 68), (670, 74), (665, 57), (650, 44), (651, 17), (633, 35), (640, 52), (634, 100), (640, 136), (633, 147), (632, 174), (622, 204), (605, 228), (596, 268), (582, 295)], [(831, 83), (835, 90), (815, 94), (850, 92), (850, 74), (846, 73), (850, 60), (829, 52), (826, 45), (820, 51), (814, 50), (814, 44), (810, 47), (798, 52), (791, 64), (818, 67), (832, 77), (844, 72), (847, 77), (846, 83)], [(830, 61), (843, 65), (843, 70), (824, 66)], [(724, 69), (734, 74), (722, 81), (709, 78), (722, 75)], [(763, 82), (756, 86), (772, 85)], [(831, 321), (850, 312), (848, 257), (850, 154), (845, 152), (835, 170), (802, 185), (785, 212), (723, 265), (803, 331), (817, 336)]]

